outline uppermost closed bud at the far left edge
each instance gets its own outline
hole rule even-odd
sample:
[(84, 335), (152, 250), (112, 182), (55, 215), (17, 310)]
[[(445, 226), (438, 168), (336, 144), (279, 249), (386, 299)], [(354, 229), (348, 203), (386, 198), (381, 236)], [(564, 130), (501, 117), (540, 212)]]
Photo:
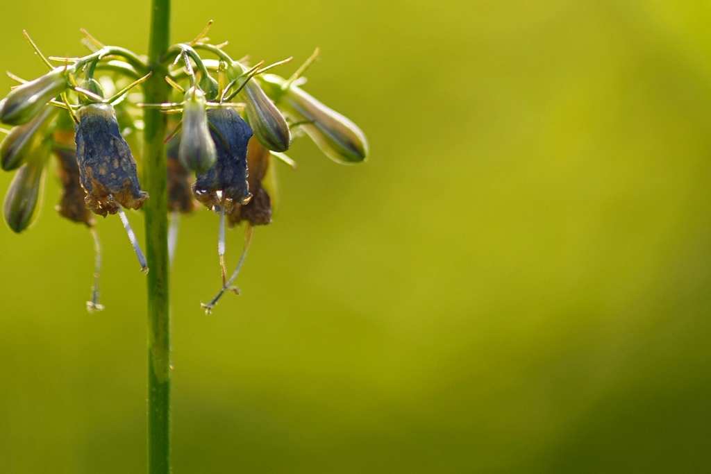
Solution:
[(0, 122), (21, 125), (35, 117), (42, 107), (70, 86), (65, 68), (55, 68), (36, 80), (11, 90), (0, 101)]

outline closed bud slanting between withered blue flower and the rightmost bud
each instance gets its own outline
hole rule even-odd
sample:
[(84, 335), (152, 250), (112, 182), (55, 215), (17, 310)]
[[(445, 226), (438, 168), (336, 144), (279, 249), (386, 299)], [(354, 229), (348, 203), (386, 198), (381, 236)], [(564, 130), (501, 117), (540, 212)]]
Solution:
[[(235, 80), (245, 72), (245, 68), (240, 63), (232, 63), (227, 72), (230, 80)], [(247, 106), (247, 121), (250, 122), (257, 140), (269, 150), (287, 151), (292, 144), (289, 124), (282, 112), (279, 112), (279, 109), (264, 94), (262, 87), (255, 80), (250, 79), (237, 94), (237, 98)]]

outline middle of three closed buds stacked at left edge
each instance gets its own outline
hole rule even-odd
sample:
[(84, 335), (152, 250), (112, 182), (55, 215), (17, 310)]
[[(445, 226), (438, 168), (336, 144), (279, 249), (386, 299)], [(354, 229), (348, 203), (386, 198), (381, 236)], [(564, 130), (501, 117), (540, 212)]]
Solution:
[(0, 144), (0, 166), (5, 171), (19, 168), (46, 139), (47, 129), (58, 113), (57, 107), (47, 105), (30, 122), (14, 127)]

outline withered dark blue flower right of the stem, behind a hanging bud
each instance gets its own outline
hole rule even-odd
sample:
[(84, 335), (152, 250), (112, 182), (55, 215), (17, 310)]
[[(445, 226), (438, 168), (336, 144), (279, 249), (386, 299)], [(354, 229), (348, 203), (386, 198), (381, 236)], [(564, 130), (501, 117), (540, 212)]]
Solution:
[(210, 171), (196, 176), (193, 193), (208, 209), (224, 206), (225, 214), (230, 214), (235, 204), (250, 199), (247, 144), (252, 129), (235, 109), (228, 107), (208, 110), (208, 120), (218, 158)]

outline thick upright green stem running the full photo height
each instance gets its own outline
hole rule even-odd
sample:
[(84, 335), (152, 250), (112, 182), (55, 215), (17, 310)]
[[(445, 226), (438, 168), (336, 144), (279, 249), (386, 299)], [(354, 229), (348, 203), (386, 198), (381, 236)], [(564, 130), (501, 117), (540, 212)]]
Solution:
[[(144, 84), (146, 102), (169, 97), (168, 71), (159, 63), (170, 41), (170, 0), (151, 0), (148, 50), (153, 75)], [(171, 472), (171, 318), (169, 306), (168, 196), (166, 192), (167, 119), (159, 110), (144, 110), (143, 153), (148, 257), (148, 472)]]

